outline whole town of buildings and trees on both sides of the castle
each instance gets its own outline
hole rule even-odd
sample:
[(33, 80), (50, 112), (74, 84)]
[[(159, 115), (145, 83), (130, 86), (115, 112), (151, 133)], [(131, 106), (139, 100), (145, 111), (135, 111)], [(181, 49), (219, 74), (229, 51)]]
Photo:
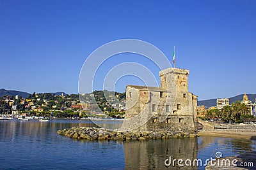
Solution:
[[(6, 95), (0, 97), (0, 115), (20, 115), (24, 117), (54, 118), (124, 118), (125, 92), (109, 95), (108, 101), (118, 99), (120, 103), (109, 103), (106, 99), (108, 90), (95, 90), (90, 94), (82, 94), (82, 102), (78, 94), (51, 93), (29, 94), (28, 97)], [(96, 103), (93, 102), (95, 99)], [(103, 111), (103, 113), (102, 113)], [(216, 99), (216, 106), (197, 106), (198, 118), (212, 122), (241, 123), (255, 121), (255, 102), (248, 100), (244, 93), (243, 99), (229, 103), (228, 98)]]

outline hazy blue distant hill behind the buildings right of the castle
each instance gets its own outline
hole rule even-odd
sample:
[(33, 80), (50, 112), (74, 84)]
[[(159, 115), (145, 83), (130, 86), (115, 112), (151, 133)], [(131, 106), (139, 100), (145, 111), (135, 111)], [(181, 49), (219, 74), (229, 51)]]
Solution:
[[(243, 101), (243, 96), (244, 96), (244, 94), (239, 94), (237, 96), (230, 97), (229, 104), (236, 103), (236, 101)], [(255, 102), (256, 94), (247, 94), (247, 96), (248, 96), (248, 100)], [(216, 100), (217, 99), (208, 99), (208, 100), (204, 100), (204, 101), (198, 101), (197, 105), (198, 106), (204, 105), (207, 108), (209, 108), (211, 106), (216, 106)]]

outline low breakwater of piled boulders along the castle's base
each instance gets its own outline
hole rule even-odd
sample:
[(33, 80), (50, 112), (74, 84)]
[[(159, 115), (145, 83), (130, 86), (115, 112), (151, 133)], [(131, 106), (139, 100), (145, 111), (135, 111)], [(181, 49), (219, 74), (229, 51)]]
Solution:
[(108, 141), (136, 141), (146, 139), (170, 139), (170, 138), (194, 138), (196, 134), (183, 132), (113, 132), (96, 127), (72, 127), (70, 129), (58, 130), (58, 134), (74, 139), (108, 140)]

